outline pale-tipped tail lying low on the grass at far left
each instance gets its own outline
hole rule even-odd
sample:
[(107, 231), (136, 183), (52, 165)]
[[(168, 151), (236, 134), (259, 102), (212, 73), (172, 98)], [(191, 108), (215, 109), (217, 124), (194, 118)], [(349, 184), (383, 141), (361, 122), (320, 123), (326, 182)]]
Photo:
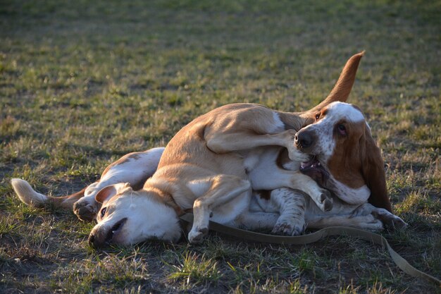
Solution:
[(34, 207), (46, 207), (54, 205), (55, 207), (62, 207), (64, 209), (72, 209), (73, 204), (85, 195), (86, 188), (79, 192), (73, 193), (63, 197), (51, 197), (36, 192), (25, 180), (20, 178), (13, 178), (11, 180), (12, 188), (17, 193), (18, 198), (27, 205)]

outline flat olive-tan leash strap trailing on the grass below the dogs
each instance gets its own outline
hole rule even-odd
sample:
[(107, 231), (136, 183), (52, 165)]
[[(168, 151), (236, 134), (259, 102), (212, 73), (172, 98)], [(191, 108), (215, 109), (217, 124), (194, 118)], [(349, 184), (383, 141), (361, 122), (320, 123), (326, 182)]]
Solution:
[[(186, 223), (193, 223), (193, 214), (183, 214), (180, 216), (182, 221)], [(397, 267), (402, 269), (406, 274), (414, 276), (416, 278), (423, 278), (431, 283), (435, 283), (441, 287), (441, 281), (434, 276), (419, 271), (414, 268), (406, 261), (401, 255), (399, 255), (395, 250), (390, 247), (387, 240), (376, 233), (369, 231), (360, 230), (359, 228), (349, 228), (346, 226), (331, 226), (328, 228), (322, 228), (319, 231), (310, 233), (308, 235), (297, 235), (297, 236), (285, 236), (285, 235), (268, 235), (263, 233), (256, 233), (252, 231), (242, 230), (240, 228), (232, 228), (230, 226), (224, 226), (221, 223), (215, 223), (210, 221), (210, 230), (216, 231), (218, 233), (223, 233), (225, 235), (230, 235), (235, 238), (240, 238), (242, 240), (252, 241), (256, 243), (274, 243), (274, 244), (284, 244), (284, 245), (305, 245), (309, 243), (317, 242), (322, 238), (331, 235), (349, 235), (351, 237), (361, 238), (363, 240), (370, 241), (374, 244), (387, 247), (390, 257), (397, 264)]]

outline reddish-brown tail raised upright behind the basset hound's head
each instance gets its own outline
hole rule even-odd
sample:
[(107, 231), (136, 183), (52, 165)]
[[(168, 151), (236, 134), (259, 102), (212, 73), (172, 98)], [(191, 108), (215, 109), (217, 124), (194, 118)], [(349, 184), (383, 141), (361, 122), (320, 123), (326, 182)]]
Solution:
[(364, 56), (364, 51), (355, 54), (352, 56), (344, 65), (342, 73), (340, 73), (340, 78), (338, 78), (337, 82), (333, 90), (330, 92), (328, 97), (324, 99), (320, 104), (309, 109), (308, 111), (304, 111), (300, 114), (303, 118), (314, 118), (318, 111), (321, 111), (325, 106), (332, 102), (340, 101), (346, 102), (349, 94), (351, 93), (352, 86), (355, 82), (356, 70), (359, 68), (359, 63), (361, 57)]

